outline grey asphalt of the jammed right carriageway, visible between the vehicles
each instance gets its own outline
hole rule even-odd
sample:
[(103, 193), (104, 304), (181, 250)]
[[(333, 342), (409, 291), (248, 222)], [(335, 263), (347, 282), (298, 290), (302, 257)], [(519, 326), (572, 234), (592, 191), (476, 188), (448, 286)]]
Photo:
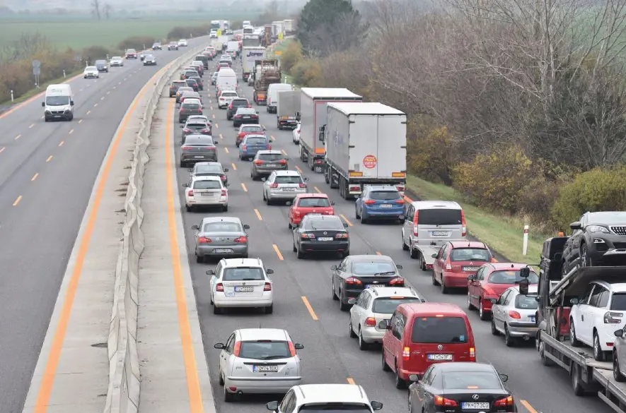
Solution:
[[(240, 64), (235, 65), (240, 73)], [(205, 75), (205, 79), (209, 79)], [(208, 83), (208, 82), (207, 82)], [(205, 83), (205, 84), (207, 84)], [(214, 88), (204, 91), (215, 104)], [(252, 88), (244, 85), (240, 94), (252, 97)], [(209, 102), (204, 97), (205, 102)], [(170, 103), (174, 104), (174, 103)], [(257, 107), (261, 123), (267, 134), (274, 138), (272, 149), (279, 149), (289, 155), (290, 169), (303, 171), (308, 177), (309, 191), (328, 193), (335, 200), (335, 212), (349, 225), (352, 254), (381, 253), (391, 256), (396, 263), (403, 265), (402, 275), (419, 289), (429, 301), (446, 301), (466, 309), (465, 293), (441, 294), (439, 287), (431, 285), (429, 273), (417, 267), (407, 251), (400, 246), (399, 225), (361, 225), (354, 219), (354, 201), (340, 198), (337, 190), (324, 183), (322, 174), (306, 169), (298, 159), (298, 147), (291, 141), (291, 131), (278, 131), (275, 115), (267, 114), (265, 107)], [(187, 249), (195, 288), (197, 309), (200, 316), (205, 354), (211, 373), (211, 386), (214, 390), (217, 412), (240, 413), (260, 412), (262, 403), (279, 400), (281, 397), (243, 397), (238, 402), (225, 403), (223, 388), (218, 384), (219, 350), (213, 348), (216, 342), (225, 342), (236, 328), (272, 327), (286, 328), (305, 349), (299, 352), (303, 363), (303, 376), (306, 383), (358, 383), (363, 385), (371, 400), (384, 403), (383, 411), (401, 412), (407, 408), (406, 390), (397, 390), (391, 373), (381, 369), (381, 352), (373, 349), (361, 352), (357, 340), (349, 338), (348, 314), (340, 311), (337, 301), (331, 298), (330, 266), (340, 262), (339, 258), (316, 258), (297, 260), (292, 252), (291, 230), (287, 227), (286, 206), (267, 206), (262, 201), (262, 182), (250, 179), (250, 162), (238, 160), (234, 145), (236, 129), (231, 121), (226, 121), (226, 111), (207, 104), (205, 114), (214, 116), (214, 138), (219, 141), (219, 160), (228, 167), (229, 209), (220, 212), (181, 212), (185, 222)], [(180, 129), (178, 119), (173, 119), (175, 147), (180, 156)], [(174, 162), (178, 165), (178, 161)], [(188, 181), (187, 169), (178, 168), (178, 187), (182, 205), (185, 203), (180, 184)], [(184, 208), (183, 208), (184, 209)], [(265, 315), (255, 311), (232, 311), (216, 316), (209, 305), (209, 276), (205, 271), (214, 264), (198, 264), (193, 256), (195, 241), (192, 225), (209, 215), (233, 215), (250, 225), (250, 257), (258, 256), (274, 269), (274, 313)], [(562, 413), (596, 412), (608, 413), (609, 407), (596, 397), (575, 397), (567, 373), (558, 368), (547, 368), (540, 364), (538, 353), (532, 345), (519, 345), (508, 348), (502, 337), (494, 337), (488, 322), (480, 321), (477, 313), (470, 313), (473, 332), (477, 343), (479, 361), (487, 361), (500, 373), (509, 374), (509, 388), (514, 391), (520, 412)]]

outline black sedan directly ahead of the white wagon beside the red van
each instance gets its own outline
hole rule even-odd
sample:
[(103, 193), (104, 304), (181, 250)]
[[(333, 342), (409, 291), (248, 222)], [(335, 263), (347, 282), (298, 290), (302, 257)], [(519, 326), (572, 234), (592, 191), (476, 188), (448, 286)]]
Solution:
[(395, 265), (389, 256), (349, 256), (330, 270), (332, 298), (339, 299), (342, 311), (347, 311), (366, 288), (405, 286), (405, 279), (398, 273), (402, 265)]

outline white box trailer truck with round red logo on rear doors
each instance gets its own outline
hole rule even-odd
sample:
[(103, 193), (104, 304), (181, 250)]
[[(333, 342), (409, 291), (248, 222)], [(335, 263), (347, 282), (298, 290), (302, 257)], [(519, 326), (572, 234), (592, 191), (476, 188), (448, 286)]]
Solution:
[(338, 188), (342, 198), (357, 198), (365, 185), (393, 185), (404, 191), (404, 112), (377, 102), (329, 102), (322, 129), (324, 180), (330, 188)]

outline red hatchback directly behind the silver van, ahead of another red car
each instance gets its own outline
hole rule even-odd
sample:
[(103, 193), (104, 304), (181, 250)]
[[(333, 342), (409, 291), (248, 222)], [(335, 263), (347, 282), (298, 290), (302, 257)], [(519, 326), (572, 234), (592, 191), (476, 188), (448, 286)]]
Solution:
[(446, 242), (435, 256), (433, 285), (441, 285), (441, 292), (450, 288), (467, 288), (468, 275), (475, 274), (480, 265), (493, 261), (491, 251), (478, 241)]

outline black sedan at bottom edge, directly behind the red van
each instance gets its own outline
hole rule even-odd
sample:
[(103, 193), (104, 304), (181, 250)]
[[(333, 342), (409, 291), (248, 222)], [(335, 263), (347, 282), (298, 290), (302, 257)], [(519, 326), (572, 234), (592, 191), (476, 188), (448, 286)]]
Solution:
[(485, 363), (436, 363), (409, 376), (409, 412), (517, 412), (509, 380)]

